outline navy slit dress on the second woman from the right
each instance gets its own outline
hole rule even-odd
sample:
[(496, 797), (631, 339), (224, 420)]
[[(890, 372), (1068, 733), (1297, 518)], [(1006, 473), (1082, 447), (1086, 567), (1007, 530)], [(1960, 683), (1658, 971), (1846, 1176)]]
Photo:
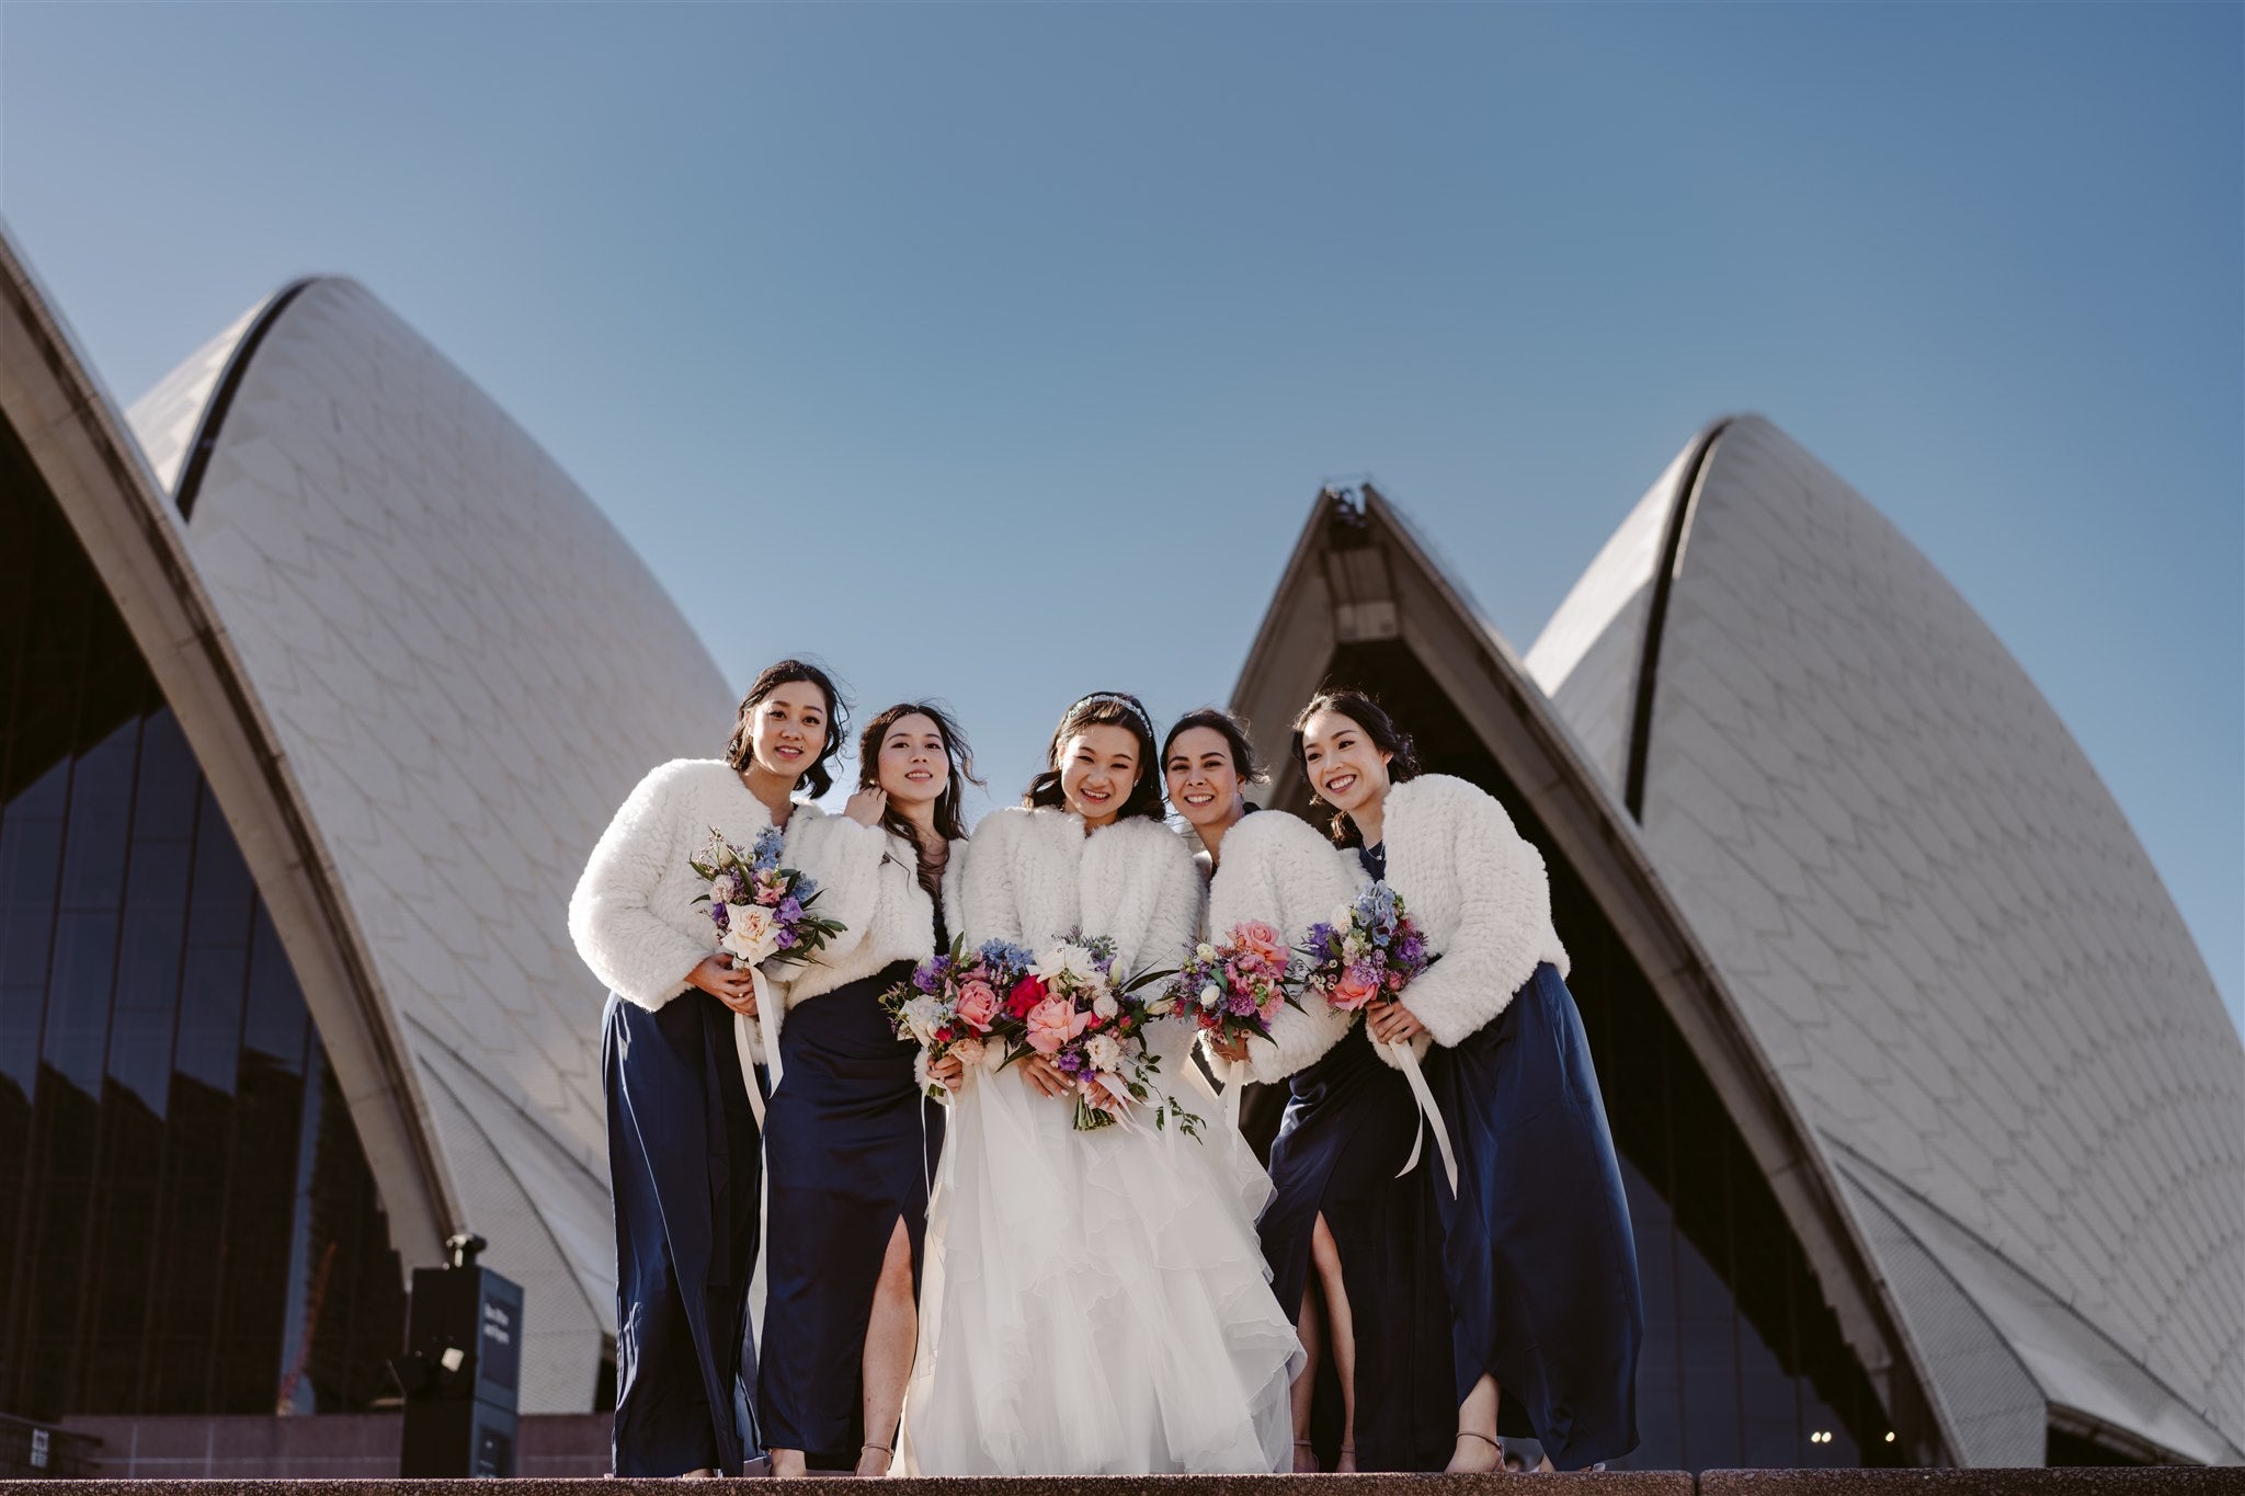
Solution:
[[(1271, 1287), (1300, 1323), (1309, 1240), (1322, 1213), (1354, 1321), (1356, 1467), (1441, 1469), (1457, 1431), (1450, 1299), (1432, 1171), (1421, 1164), (1396, 1178), (1419, 1124), (1410, 1086), (1356, 1023), (1318, 1063), (1295, 1072), (1286, 1092), (1286, 1117), (1271, 1142), (1275, 1193), (1257, 1225)], [(1320, 1359), (1318, 1382), (1311, 1438), (1331, 1465), (1340, 1438), (1331, 1355)]]

